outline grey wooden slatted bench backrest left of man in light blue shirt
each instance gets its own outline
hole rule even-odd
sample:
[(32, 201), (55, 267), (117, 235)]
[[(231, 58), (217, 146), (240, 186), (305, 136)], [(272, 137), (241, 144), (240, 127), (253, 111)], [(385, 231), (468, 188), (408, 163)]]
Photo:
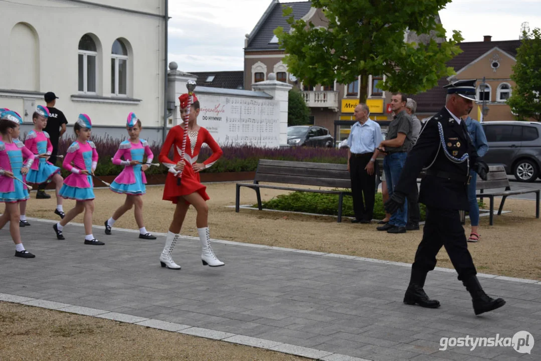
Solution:
[(254, 183), (274, 182), (305, 186), (351, 188), (347, 165), (260, 159)]

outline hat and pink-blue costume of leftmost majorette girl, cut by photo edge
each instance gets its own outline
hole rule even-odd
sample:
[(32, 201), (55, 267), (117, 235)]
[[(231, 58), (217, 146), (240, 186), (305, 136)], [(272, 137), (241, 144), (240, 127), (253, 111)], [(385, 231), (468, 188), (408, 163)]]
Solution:
[[(21, 116), (12, 110), (2, 111), (0, 119), (16, 124), (23, 123)], [(27, 186), (22, 183), (25, 177), (21, 174), (21, 169), (30, 168), (33, 162), (34, 154), (24, 146), (23, 142), (18, 139), (14, 139), (12, 143), (0, 141), (0, 202), (17, 203), (30, 198)], [(22, 182), (4, 175), (6, 170)]]

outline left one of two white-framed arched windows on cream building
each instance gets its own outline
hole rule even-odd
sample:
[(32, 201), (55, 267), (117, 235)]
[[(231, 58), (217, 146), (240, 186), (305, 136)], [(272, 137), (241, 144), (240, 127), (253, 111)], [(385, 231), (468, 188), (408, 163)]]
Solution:
[(79, 74), (78, 90), (80, 93), (96, 93), (97, 47), (93, 38), (85, 34), (79, 41), (78, 48)]

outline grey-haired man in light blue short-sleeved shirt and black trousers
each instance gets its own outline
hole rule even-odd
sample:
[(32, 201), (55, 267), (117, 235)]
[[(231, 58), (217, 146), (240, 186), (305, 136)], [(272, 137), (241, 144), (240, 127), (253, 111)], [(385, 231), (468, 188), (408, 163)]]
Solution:
[[(378, 145), (383, 140), (378, 123), (368, 118), (370, 109), (360, 103), (353, 112), (357, 123), (351, 127), (347, 139), (347, 170), (351, 177), (353, 195), (352, 223), (370, 223), (374, 214), (376, 157)], [(363, 201), (364, 196), (364, 201)]]

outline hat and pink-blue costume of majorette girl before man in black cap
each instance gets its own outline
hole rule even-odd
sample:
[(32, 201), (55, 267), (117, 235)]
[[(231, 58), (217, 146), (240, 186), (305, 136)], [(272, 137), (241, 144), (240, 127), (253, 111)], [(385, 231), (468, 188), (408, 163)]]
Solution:
[[(36, 113), (45, 119), (49, 117), (49, 109), (44, 106), (37, 106)], [(24, 141), (24, 146), (30, 149), (33, 154), (52, 153), (52, 143), (47, 132), (30, 130)], [(36, 184), (47, 183), (56, 173), (60, 173), (60, 168), (55, 167), (45, 158), (38, 158), (38, 161), (32, 163), (32, 167), (28, 171), (27, 181)]]

